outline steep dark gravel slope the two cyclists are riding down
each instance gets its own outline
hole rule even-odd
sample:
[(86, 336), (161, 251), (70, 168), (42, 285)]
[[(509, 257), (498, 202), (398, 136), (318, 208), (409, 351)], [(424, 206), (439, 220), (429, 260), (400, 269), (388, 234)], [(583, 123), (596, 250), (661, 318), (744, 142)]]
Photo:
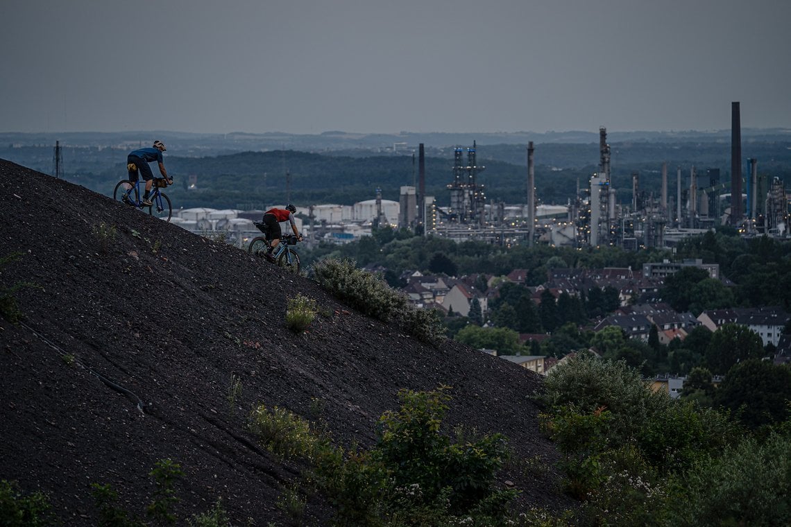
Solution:
[[(500, 483), (521, 491), (520, 510), (573, 506), (539, 432), (538, 375), (453, 341), (421, 344), (312, 280), (6, 160), (0, 204), (0, 257), (17, 255), (0, 267), (0, 289), (22, 285), (13, 296), (25, 316), (0, 319), (0, 479), (44, 491), (65, 525), (97, 525), (93, 483), (142, 514), (149, 472), (165, 458), (185, 473), (180, 518), (221, 498), (234, 525), (284, 525), (275, 502), (300, 466), (256, 443), (245, 427), (253, 405), (370, 446), (399, 389), (440, 385), (452, 386), (445, 431), (464, 424), (509, 439), (515, 462)], [(297, 294), (323, 313), (300, 335), (284, 322)], [(327, 525), (330, 510), (311, 501), (306, 514)]]

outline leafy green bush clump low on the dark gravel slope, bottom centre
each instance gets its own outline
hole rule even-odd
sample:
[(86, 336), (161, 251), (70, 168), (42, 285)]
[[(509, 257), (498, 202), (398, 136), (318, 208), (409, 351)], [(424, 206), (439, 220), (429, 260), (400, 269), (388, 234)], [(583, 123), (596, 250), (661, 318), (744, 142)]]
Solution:
[(494, 487), (508, 457), (505, 439), (495, 434), (451, 442), (442, 435), (445, 390), (402, 390), (400, 410), (384, 413), (377, 446), (367, 451), (345, 452), (277, 407), (259, 406), (251, 428), (267, 449), (308, 463), (302, 494), (320, 491), (335, 510), (335, 525), (464, 525), (454, 519), (458, 514), (469, 516), (471, 525), (502, 525), (517, 493)]

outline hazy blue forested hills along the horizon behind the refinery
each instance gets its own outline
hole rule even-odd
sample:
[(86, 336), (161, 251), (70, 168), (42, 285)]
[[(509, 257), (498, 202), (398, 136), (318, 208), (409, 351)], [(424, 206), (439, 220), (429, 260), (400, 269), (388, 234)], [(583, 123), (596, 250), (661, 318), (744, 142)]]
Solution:
[[(759, 173), (791, 181), (791, 131), (742, 130), (743, 160), (758, 160)], [(399, 187), (417, 181), (417, 148), (426, 145), (426, 190), (448, 205), (453, 149), (474, 143), (476, 162), (485, 166), (478, 183), (490, 201), (519, 203), (527, 199), (527, 143), (534, 141), (539, 201), (565, 204), (577, 185), (585, 188), (598, 170), (599, 137), (594, 132), (547, 134), (0, 134), (0, 157), (52, 173), (55, 141), (62, 146), (65, 179), (101, 194), (111, 194), (125, 177), (127, 153), (153, 138), (168, 145), (165, 164), (176, 175), (171, 190), (177, 206), (218, 209), (267, 206), (286, 201), (300, 205), (373, 199), (377, 187), (384, 199), (398, 200)], [(730, 131), (608, 133), (612, 181), (620, 203), (631, 201), (632, 174), (646, 194), (660, 191), (660, 170), (676, 168), (687, 186), (694, 166), (698, 184), (709, 186), (706, 170), (717, 168), (721, 181), (730, 178)], [(466, 161), (466, 153), (465, 153)], [(290, 181), (286, 183), (286, 173)], [(187, 192), (190, 176), (198, 178)], [(181, 189), (181, 190), (180, 190)], [(290, 190), (290, 192), (289, 192)]]

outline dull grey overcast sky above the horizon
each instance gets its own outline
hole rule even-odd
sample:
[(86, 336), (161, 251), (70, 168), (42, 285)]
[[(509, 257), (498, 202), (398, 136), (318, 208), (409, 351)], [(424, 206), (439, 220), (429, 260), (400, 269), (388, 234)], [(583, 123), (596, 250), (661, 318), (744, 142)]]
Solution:
[(0, 131), (791, 127), (787, 0), (2, 0)]

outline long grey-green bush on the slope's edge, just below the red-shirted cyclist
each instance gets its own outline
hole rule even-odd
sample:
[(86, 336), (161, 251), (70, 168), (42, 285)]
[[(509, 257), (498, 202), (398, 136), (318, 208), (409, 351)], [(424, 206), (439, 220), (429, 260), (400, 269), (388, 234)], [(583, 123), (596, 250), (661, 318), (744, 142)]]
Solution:
[(435, 311), (418, 310), (387, 282), (358, 269), (354, 260), (325, 258), (313, 264), (313, 273), (323, 288), (362, 314), (395, 322), (426, 344), (436, 346), (445, 340), (445, 328)]

